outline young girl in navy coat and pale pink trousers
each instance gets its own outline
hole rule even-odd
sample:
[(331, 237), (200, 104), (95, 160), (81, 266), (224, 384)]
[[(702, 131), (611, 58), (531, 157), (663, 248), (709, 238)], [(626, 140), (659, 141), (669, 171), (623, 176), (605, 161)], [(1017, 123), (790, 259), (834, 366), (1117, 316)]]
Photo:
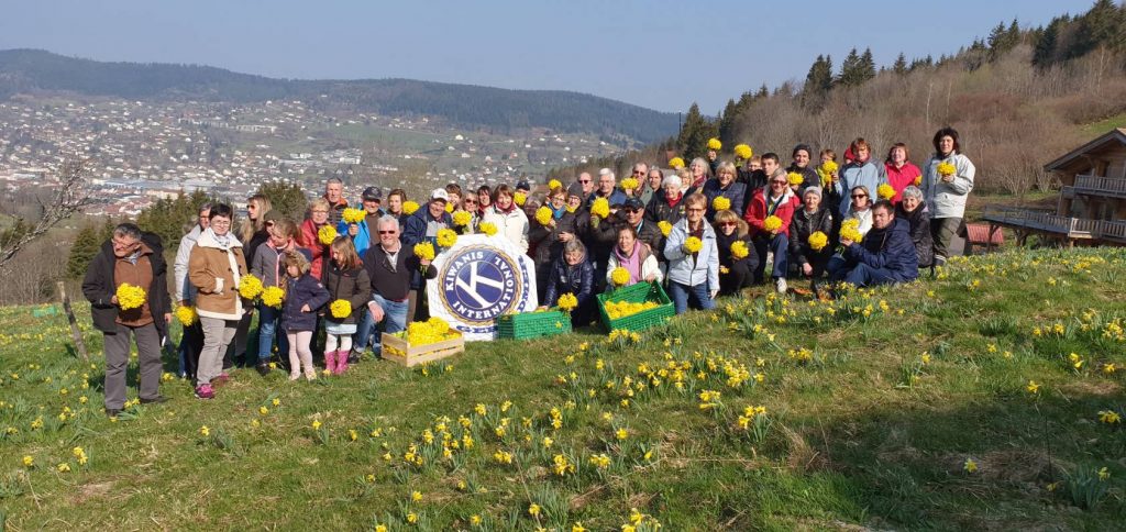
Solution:
[(329, 301), (324, 285), (310, 274), (311, 264), (305, 254), (289, 251), (285, 254), (286, 298), (282, 305), (282, 328), (289, 341), (289, 380), (297, 380), (304, 368), (305, 378), (316, 379), (313, 353), (309, 349), (316, 331), (316, 309)]

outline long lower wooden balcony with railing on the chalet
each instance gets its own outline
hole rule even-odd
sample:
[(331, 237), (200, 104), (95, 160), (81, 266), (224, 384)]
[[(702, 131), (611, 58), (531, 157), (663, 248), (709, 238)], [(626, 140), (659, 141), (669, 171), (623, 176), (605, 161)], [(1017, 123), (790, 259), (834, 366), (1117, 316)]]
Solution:
[(1067, 240), (1101, 240), (1116, 244), (1126, 244), (1126, 220), (1071, 218), (1044, 210), (994, 206), (985, 207), (982, 219), (990, 224), (1012, 227), (1017, 231), (1051, 233)]

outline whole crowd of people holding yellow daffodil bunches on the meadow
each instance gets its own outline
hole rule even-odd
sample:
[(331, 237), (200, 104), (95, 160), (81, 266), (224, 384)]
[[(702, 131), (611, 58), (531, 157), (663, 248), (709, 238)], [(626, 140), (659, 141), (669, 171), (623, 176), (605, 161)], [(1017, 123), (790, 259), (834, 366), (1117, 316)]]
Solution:
[[(669, 169), (637, 163), (620, 181), (602, 169), (597, 180), (582, 172), (571, 183), (452, 183), (421, 202), (402, 189), (384, 197), (368, 187), (354, 207), (332, 179), (302, 220), (280, 215), (260, 195), (248, 199), (238, 224), (231, 206), (204, 205), (180, 240), (171, 297), (160, 238), (120, 224), (82, 287), (106, 336), (106, 411), (124, 407), (132, 339), (141, 403), (164, 400), (160, 344), (173, 305), (177, 314), (194, 309), (180, 342), (180, 372), (195, 380), (199, 398), (213, 398), (236, 362), (269, 373), (275, 350), (288, 354), (292, 380), (316, 378), (314, 343), (323, 342), (316, 351), (337, 375), (368, 350), (379, 355), (381, 333), (428, 315), (426, 281), (437, 271), (414, 246), (434, 243), (441, 229), (510, 241), (533, 259), (543, 306), (573, 295), (572, 321), (582, 326), (597, 314), (597, 294), (638, 282), (662, 283), (680, 314), (714, 308), (717, 297), (766, 285), (768, 274), (778, 292), (806, 280), (815, 297), (832, 297), (835, 282), (911, 281), (949, 256), (974, 184), (974, 165), (948, 127), (935, 134), (921, 168), (903, 143), (875, 160), (864, 138), (852, 141), (841, 161), (821, 150), (816, 163), (813, 148), (798, 144), (786, 166), (776, 153), (740, 147), (734, 161), (709, 146), (706, 157), (687, 165), (679, 159)], [(244, 297), (250, 276), (260, 281), (261, 297)], [(143, 288), (143, 301), (124, 305), (123, 283)]]

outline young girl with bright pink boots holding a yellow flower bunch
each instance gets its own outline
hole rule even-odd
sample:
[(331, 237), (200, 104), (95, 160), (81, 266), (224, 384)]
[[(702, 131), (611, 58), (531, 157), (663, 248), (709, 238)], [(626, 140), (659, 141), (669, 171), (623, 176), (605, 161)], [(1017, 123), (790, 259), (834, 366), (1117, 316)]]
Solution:
[(351, 351), (351, 336), (356, 334), (356, 313), (372, 298), (372, 281), (351, 238), (338, 236), (330, 249), (332, 263), (325, 281), (329, 304), (343, 299), (348, 301), (349, 312), (345, 317), (333, 316), (331, 307), (324, 313), (324, 367), (341, 375), (348, 371), (348, 352)]

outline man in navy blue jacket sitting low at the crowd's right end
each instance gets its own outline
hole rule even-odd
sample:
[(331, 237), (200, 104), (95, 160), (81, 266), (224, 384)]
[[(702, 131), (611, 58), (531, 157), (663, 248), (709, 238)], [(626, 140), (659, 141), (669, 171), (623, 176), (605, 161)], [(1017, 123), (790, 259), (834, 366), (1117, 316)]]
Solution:
[(886, 199), (872, 207), (872, 231), (864, 242), (841, 238), (844, 258), (833, 258), (829, 276), (857, 287), (910, 282), (919, 277), (919, 259), (911, 241), (911, 224), (895, 218)]

